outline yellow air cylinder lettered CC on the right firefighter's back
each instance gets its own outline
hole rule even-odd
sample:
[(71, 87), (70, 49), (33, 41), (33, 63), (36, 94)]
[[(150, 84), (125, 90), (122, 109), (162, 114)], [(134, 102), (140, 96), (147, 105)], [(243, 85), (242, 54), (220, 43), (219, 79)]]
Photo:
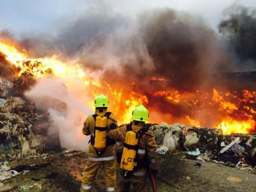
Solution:
[[(138, 137), (133, 131), (127, 131), (125, 136), (125, 143), (131, 146), (138, 145)], [(120, 168), (126, 171), (133, 171), (135, 165), (137, 150), (129, 149), (126, 146), (123, 147), (123, 154), (121, 157)]]

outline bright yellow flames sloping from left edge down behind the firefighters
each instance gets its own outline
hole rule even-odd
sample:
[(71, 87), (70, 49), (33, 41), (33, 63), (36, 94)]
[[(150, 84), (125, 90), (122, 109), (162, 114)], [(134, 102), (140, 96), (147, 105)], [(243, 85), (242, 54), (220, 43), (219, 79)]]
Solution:
[[(122, 90), (115, 90), (106, 82), (100, 82), (89, 77), (81, 64), (69, 65), (57, 59), (57, 55), (48, 58), (29, 58), (26, 53), (21, 53), (13, 45), (0, 41), (0, 53), (5, 55), (5, 59), (15, 65), (19, 70), (19, 75), (29, 73), (36, 78), (54, 76), (58, 78), (76, 77), (83, 82), (84, 88), (90, 90), (91, 101), (88, 106), (94, 110), (94, 97), (104, 93), (111, 101), (111, 110), (114, 114), (120, 114), (117, 118), (119, 123), (131, 121), (132, 110), (140, 104), (147, 104), (148, 98), (142, 94), (131, 92), (124, 95)], [(69, 87), (68, 84), (65, 84)], [(70, 85), (72, 86), (72, 85)]]

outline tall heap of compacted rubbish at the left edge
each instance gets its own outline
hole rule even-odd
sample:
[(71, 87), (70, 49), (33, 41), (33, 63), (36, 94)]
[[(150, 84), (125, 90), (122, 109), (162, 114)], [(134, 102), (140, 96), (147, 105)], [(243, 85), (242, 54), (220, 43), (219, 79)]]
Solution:
[(0, 153), (5, 158), (25, 158), (45, 148), (44, 135), (36, 127), (47, 126), (47, 114), (37, 113), (35, 104), (23, 96), (35, 79), (23, 74), (9, 82), (0, 78)]

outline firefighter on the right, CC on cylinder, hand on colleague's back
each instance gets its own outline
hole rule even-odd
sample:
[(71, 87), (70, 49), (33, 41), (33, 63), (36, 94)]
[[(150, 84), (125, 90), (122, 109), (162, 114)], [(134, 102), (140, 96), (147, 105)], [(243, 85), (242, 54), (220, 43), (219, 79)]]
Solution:
[(157, 145), (149, 126), (145, 125), (148, 117), (148, 110), (138, 106), (129, 125), (108, 132), (109, 138), (123, 143), (122, 151), (117, 154), (120, 164), (117, 192), (128, 192), (131, 184), (135, 192), (145, 192), (148, 169), (154, 177), (157, 174)]

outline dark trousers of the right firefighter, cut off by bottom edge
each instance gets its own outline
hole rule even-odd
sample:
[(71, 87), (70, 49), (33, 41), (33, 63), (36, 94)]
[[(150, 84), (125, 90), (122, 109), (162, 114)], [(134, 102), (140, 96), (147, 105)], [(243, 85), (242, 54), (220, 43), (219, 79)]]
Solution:
[(134, 192), (147, 192), (147, 174), (144, 176), (132, 176), (126, 179), (118, 174), (117, 192), (129, 192), (131, 184), (133, 185)]

